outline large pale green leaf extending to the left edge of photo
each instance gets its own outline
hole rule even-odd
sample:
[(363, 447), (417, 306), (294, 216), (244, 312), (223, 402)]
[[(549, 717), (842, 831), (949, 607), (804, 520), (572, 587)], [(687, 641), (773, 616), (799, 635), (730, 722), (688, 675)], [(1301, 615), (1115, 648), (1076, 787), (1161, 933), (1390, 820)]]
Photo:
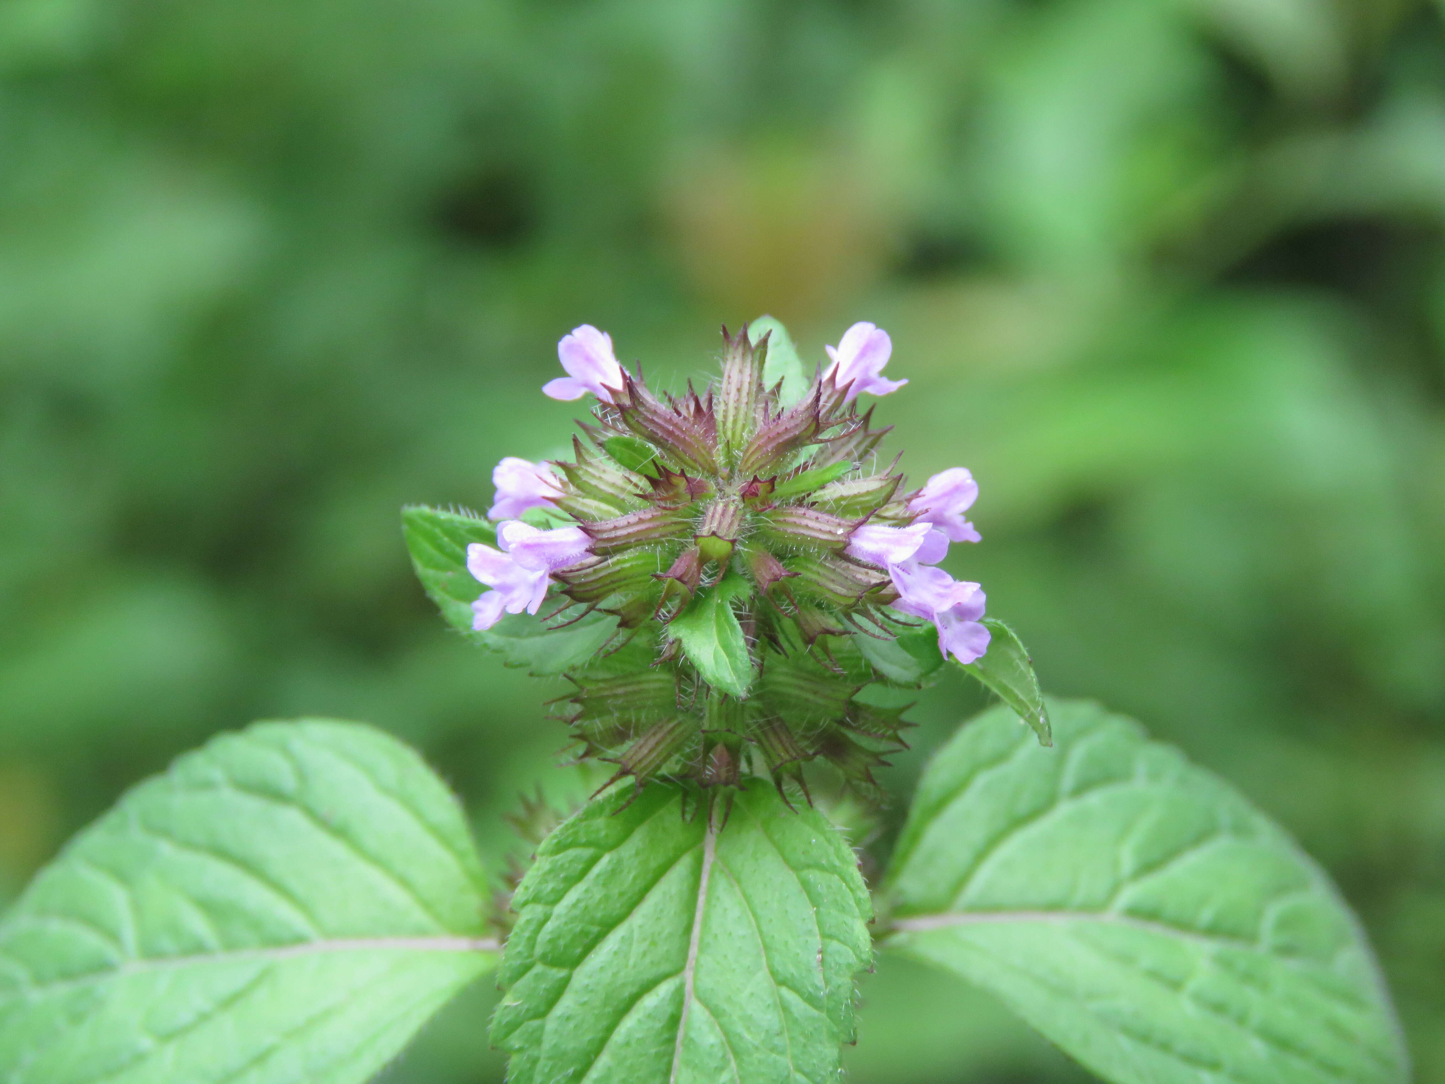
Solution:
[(496, 963), (462, 812), (355, 723), (212, 740), (0, 922), (7, 1084), (364, 1081)]

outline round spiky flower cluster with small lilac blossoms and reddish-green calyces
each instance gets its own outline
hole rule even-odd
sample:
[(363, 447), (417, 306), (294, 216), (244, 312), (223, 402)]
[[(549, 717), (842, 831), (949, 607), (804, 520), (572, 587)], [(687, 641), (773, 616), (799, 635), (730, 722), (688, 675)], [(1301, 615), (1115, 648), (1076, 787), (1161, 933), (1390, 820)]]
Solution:
[(868, 783), (902, 721), (854, 700), (877, 676), (864, 640), (931, 623), (959, 662), (988, 648), (983, 590), (938, 567), (978, 541), (972, 476), (906, 491), (876, 468), (887, 429), (857, 400), (906, 383), (883, 376), (887, 332), (854, 324), (795, 399), (764, 382), (767, 343), (724, 330), (720, 379), (669, 396), (618, 364), (607, 334), (574, 330), (558, 345), (566, 376), (542, 389), (597, 400), (574, 458), (503, 460), (497, 546), (467, 554), (488, 588), (478, 630), (523, 611), (558, 627), (616, 619), (607, 658), (569, 675), (569, 720), (584, 754), (639, 778), (678, 765), (725, 785), (756, 756), (801, 779), (824, 757)]

